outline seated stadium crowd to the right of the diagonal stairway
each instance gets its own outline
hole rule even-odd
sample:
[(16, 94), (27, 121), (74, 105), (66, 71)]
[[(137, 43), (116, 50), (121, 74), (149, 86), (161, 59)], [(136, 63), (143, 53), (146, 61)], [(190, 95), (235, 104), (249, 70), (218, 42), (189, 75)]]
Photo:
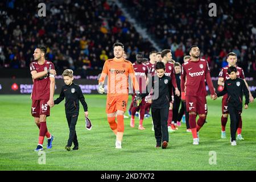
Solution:
[(233, 51), (244, 71), (256, 70), (255, 1), (218, 1), (216, 17), (209, 16), (211, 1), (121, 2), (164, 48), (171, 48), (174, 60), (182, 63), (195, 44), (212, 69), (227, 65), (226, 55)]

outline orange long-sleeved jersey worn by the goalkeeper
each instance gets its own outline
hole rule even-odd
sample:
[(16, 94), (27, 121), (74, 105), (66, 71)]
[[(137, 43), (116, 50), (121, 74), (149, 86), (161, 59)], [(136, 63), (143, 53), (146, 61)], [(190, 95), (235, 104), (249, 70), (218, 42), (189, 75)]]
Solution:
[(108, 75), (108, 97), (129, 94), (129, 76), (135, 90), (139, 90), (139, 85), (135, 77), (133, 64), (121, 59), (108, 59), (105, 61), (99, 83), (104, 83)]

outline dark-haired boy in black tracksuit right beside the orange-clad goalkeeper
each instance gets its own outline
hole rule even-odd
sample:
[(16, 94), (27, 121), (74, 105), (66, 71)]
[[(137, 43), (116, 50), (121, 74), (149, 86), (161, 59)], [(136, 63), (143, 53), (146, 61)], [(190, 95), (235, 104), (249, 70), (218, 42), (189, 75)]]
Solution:
[(154, 123), (156, 148), (166, 148), (169, 142), (167, 127), (168, 113), (172, 95), (171, 77), (164, 75), (166, 67), (164, 63), (155, 65), (156, 75), (152, 76), (152, 96), (147, 96), (147, 102), (152, 103), (151, 114)]

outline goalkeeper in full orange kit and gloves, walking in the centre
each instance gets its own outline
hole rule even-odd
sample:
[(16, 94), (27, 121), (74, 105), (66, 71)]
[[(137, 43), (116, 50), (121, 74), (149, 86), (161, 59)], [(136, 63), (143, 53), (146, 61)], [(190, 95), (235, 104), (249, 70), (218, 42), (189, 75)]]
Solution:
[[(142, 100), (139, 93), (139, 85), (135, 77), (133, 64), (123, 59), (124, 46), (122, 43), (114, 43), (114, 58), (105, 61), (98, 85), (98, 92), (104, 93), (104, 81), (108, 76), (108, 92), (106, 100), (106, 113), (110, 128), (117, 136), (115, 148), (122, 148), (124, 122), (123, 116), (126, 111), (129, 94), (129, 76), (133, 82), (136, 93), (135, 102), (139, 104)], [(117, 115), (117, 122), (115, 122)]]

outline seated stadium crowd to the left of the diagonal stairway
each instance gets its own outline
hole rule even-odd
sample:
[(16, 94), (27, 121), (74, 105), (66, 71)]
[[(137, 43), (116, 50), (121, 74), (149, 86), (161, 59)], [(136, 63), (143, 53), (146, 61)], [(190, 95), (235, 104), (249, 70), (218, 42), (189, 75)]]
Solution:
[(131, 60), (138, 51), (153, 49), (118, 7), (104, 0), (44, 3), (46, 17), (38, 16), (39, 1), (0, 2), (0, 68), (28, 68), (41, 44), (57, 69), (73, 70), (102, 69), (118, 41)]

